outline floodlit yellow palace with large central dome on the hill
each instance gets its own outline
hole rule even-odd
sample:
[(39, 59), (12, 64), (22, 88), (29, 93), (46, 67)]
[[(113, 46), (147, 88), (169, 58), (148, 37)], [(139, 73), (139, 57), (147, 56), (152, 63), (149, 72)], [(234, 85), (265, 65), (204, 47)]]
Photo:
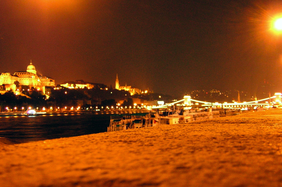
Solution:
[(19, 85), (30, 87), (55, 86), (54, 79), (37, 76), (35, 66), (31, 62), (26, 71), (15, 72), (13, 75), (5, 72), (0, 75), (0, 85), (13, 85), (15, 81), (18, 81)]

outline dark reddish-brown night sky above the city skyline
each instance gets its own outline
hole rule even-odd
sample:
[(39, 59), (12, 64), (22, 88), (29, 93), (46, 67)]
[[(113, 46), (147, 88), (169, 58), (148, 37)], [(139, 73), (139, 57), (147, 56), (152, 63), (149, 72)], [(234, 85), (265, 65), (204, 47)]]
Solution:
[(83, 79), (173, 96), (193, 89), (282, 92), (282, 1), (1, 0), (0, 72)]

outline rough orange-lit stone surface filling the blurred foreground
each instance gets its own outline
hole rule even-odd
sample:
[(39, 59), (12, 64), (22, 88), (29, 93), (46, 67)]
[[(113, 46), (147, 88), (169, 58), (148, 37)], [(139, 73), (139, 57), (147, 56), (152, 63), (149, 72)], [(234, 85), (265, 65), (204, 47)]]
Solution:
[(15, 145), (0, 186), (282, 186), (282, 110)]

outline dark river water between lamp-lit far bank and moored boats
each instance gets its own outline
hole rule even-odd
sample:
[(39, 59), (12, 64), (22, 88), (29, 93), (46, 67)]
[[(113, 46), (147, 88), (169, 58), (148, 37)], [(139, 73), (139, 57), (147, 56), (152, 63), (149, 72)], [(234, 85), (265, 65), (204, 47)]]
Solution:
[(0, 137), (17, 143), (106, 132), (110, 114), (0, 117)]

